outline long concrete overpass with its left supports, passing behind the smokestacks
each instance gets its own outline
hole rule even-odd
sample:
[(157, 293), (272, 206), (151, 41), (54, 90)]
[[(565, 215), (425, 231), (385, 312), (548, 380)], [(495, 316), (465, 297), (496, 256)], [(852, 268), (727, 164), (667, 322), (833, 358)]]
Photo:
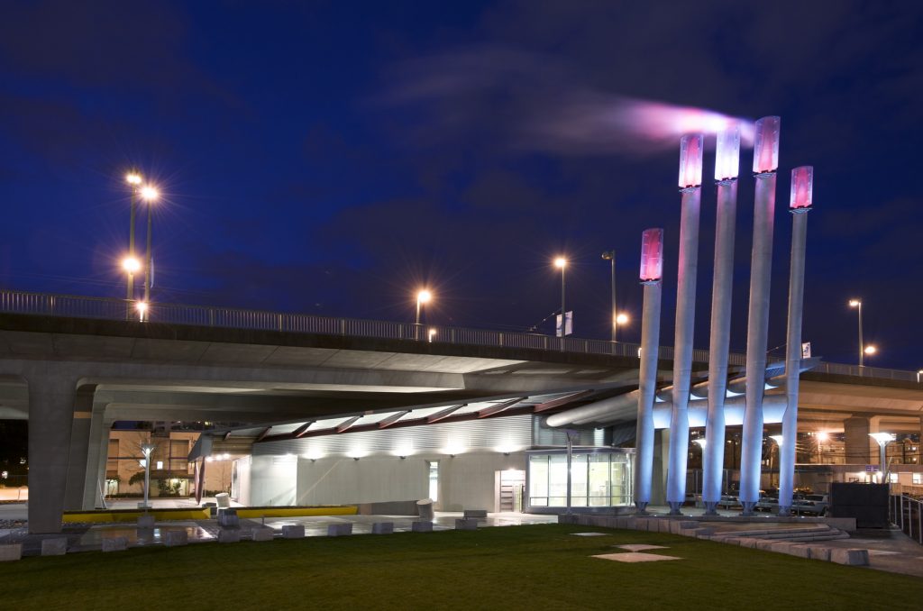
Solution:
[[(32, 532), (92, 507), (117, 420), (271, 425), (516, 398), (556, 413), (638, 383), (629, 343), (197, 306), (131, 317), (124, 300), (0, 292), (0, 417), (30, 420)], [(668, 383), (671, 351), (661, 354)], [(694, 361), (702, 379), (708, 353)], [(734, 375), (742, 363), (731, 355)], [(919, 432), (910, 372), (822, 364), (803, 377), (803, 419)]]

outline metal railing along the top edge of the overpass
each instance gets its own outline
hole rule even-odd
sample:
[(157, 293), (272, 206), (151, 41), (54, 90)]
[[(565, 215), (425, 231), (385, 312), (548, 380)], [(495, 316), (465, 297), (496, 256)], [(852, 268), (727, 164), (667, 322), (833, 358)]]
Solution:
[[(110, 297), (0, 291), (0, 312), (11, 314), (138, 320), (138, 312), (135, 306), (136, 302)], [(612, 342), (585, 340), (575, 337), (562, 339), (551, 335), (519, 331), (465, 329), (462, 327), (415, 325), (385, 320), (283, 314), (234, 307), (152, 304), (147, 316), (151, 321), (172, 325), (289, 331), (386, 340), (437, 341), (470, 346), (498, 346), (566, 353), (615, 354), (634, 358), (638, 358), (641, 351), (640, 344), (629, 341)], [(659, 356), (665, 360), (672, 360), (674, 350), (670, 346), (661, 346)], [(701, 349), (692, 351), (692, 360), (695, 363), (708, 363), (708, 359), (709, 351)], [(730, 353), (728, 355), (729, 365), (743, 366), (746, 363), (746, 354)], [(917, 380), (917, 374), (911, 371), (897, 371), (894, 369), (882, 369), (881, 367), (857, 367), (836, 363), (821, 363), (815, 371), (847, 376)]]

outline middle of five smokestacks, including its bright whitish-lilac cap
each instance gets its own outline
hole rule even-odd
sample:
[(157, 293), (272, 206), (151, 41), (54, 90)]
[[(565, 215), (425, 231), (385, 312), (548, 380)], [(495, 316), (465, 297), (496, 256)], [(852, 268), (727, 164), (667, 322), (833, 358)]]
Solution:
[(708, 360), (708, 413), (705, 446), (702, 448), (702, 500), (707, 515), (717, 515), (725, 469), (725, 394), (727, 353), (731, 341), (740, 126), (737, 123), (727, 126), (718, 133), (716, 142), (714, 180), (718, 184), (718, 202), (714, 230), (712, 336)]

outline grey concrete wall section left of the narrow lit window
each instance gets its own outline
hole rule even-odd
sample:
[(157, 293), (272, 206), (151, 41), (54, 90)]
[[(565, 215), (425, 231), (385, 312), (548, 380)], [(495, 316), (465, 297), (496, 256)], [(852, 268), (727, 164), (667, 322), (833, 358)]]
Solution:
[(429, 497), (426, 458), (298, 460), (297, 505), (351, 505)]

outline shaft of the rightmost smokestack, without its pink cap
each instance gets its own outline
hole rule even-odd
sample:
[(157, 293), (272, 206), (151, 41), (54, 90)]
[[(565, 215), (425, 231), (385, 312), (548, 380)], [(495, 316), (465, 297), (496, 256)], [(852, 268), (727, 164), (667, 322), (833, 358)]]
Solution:
[(788, 275), (788, 331), (785, 340), (785, 413), (782, 415), (782, 447), (779, 448), (779, 514), (788, 515), (795, 487), (795, 446), (798, 434), (798, 382), (801, 375), (801, 317), (804, 312), (805, 244), (808, 214), (792, 215), (792, 258)]

